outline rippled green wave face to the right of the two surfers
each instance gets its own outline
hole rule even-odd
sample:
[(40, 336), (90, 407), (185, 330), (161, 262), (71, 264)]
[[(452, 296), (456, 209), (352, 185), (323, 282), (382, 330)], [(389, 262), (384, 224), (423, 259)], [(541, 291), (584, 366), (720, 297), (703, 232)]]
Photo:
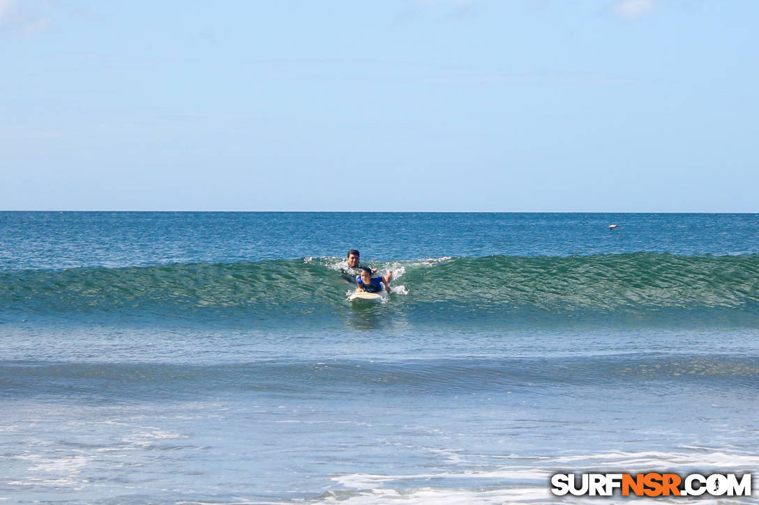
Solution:
[(478, 303), (547, 310), (739, 307), (759, 300), (759, 256), (621, 255), (519, 258), (490, 256), (442, 262), (421, 279)]

